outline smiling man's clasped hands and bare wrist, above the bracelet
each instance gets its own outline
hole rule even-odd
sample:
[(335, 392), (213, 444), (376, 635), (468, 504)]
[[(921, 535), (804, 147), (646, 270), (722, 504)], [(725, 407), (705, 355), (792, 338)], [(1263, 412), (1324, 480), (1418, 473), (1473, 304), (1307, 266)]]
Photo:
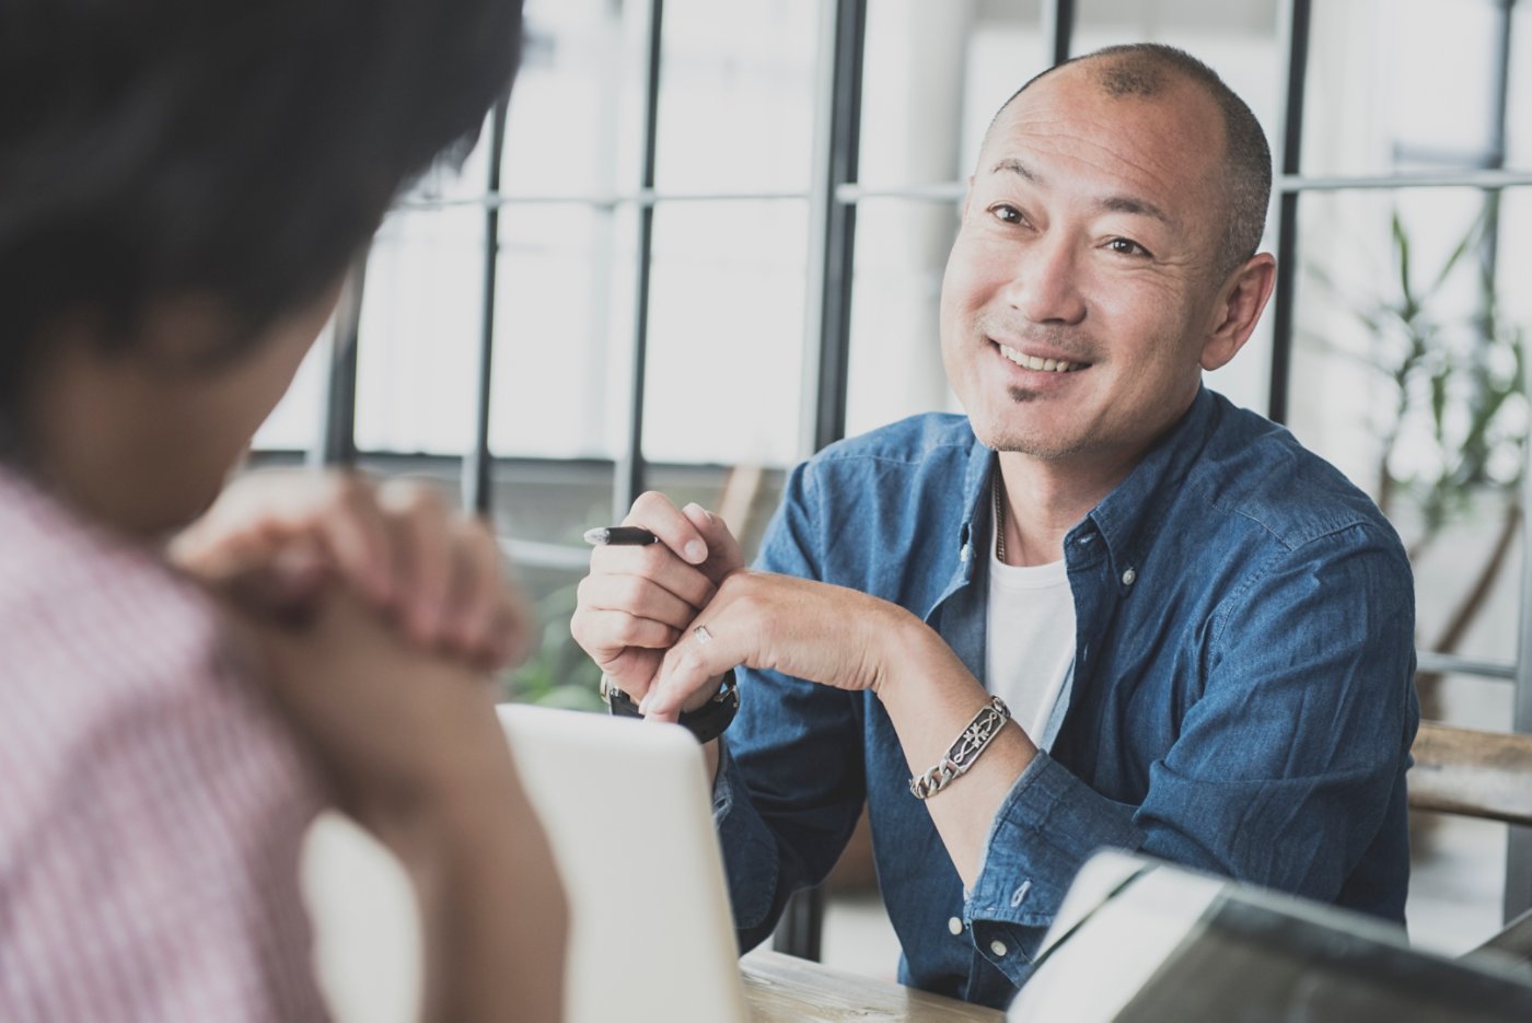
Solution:
[(740, 665), (878, 692), (899, 629), (921, 625), (846, 587), (745, 568), (738, 541), (700, 505), (651, 492), (622, 524), (659, 542), (591, 553), (570, 632), (645, 717), (676, 721)]

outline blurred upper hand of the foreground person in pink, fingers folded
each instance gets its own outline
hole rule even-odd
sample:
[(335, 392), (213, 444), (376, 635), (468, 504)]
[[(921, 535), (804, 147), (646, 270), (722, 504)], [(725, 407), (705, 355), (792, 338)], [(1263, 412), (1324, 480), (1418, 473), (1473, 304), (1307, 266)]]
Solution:
[(239, 579), (268, 608), (302, 616), (342, 580), (421, 649), (478, 668), (521, 660), (532, 614), (501, 577), (501, 551), (480, 521), (429, 487), (381, 485), (340, 472), (262, 472), (231, 482), (169, 548), (218, 588)]

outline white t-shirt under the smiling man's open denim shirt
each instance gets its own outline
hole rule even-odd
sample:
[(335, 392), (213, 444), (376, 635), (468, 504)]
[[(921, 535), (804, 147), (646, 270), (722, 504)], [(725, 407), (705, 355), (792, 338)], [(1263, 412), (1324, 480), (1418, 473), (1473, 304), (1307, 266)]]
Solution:
[(991, 694), (1040, 749), (1074, 669), (1074, 596), (1065, 562), (1002, 565), (990, 544), (985, 675)]

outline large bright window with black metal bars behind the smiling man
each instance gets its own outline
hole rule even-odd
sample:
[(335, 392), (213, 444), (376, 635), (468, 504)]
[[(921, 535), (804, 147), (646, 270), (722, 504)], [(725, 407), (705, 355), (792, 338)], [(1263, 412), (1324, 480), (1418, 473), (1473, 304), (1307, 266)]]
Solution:
[[(502, 132), (378, 231), (340, 420), (378, 472), (467, 478), (545, 619), (516, 685), (588, 688), (567, 643), (581, 531), (656, 485), (726, 502), (749, 539), (817, 446), (956, 409), (938, 299), (990, 118), (1062, 57), (1166, 41), (1226, 77), (1278, 159), (1278, 296), (1210, 386), (1399, 524), (1439, 712), (1532, 730), (1526, 8), (529, 0)], [(316, 349), (259, 446), (322, 447), (329, 364)], [(1506, 905), (1532, 904), (1520, 832), (1507, 878)]]

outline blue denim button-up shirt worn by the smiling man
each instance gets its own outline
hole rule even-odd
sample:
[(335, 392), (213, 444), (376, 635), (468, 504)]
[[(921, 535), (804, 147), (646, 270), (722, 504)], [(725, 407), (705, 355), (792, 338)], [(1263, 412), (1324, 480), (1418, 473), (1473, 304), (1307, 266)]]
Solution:
[[(758, 567), (908, 608), (982, 680), (993, 470), (954, 415), (827, 447), (791, 475)], [(1074, 681), (971, 891), (875, 695), (740, 672), (714, 806), (741, 948), (826, 876), (864, 802), (901, 980), (970, 1002), (1011, 998), (1102, 845), (1403, 920), (1414, 593), (1377, 507), (1204, 389), (1065, 562)]]

